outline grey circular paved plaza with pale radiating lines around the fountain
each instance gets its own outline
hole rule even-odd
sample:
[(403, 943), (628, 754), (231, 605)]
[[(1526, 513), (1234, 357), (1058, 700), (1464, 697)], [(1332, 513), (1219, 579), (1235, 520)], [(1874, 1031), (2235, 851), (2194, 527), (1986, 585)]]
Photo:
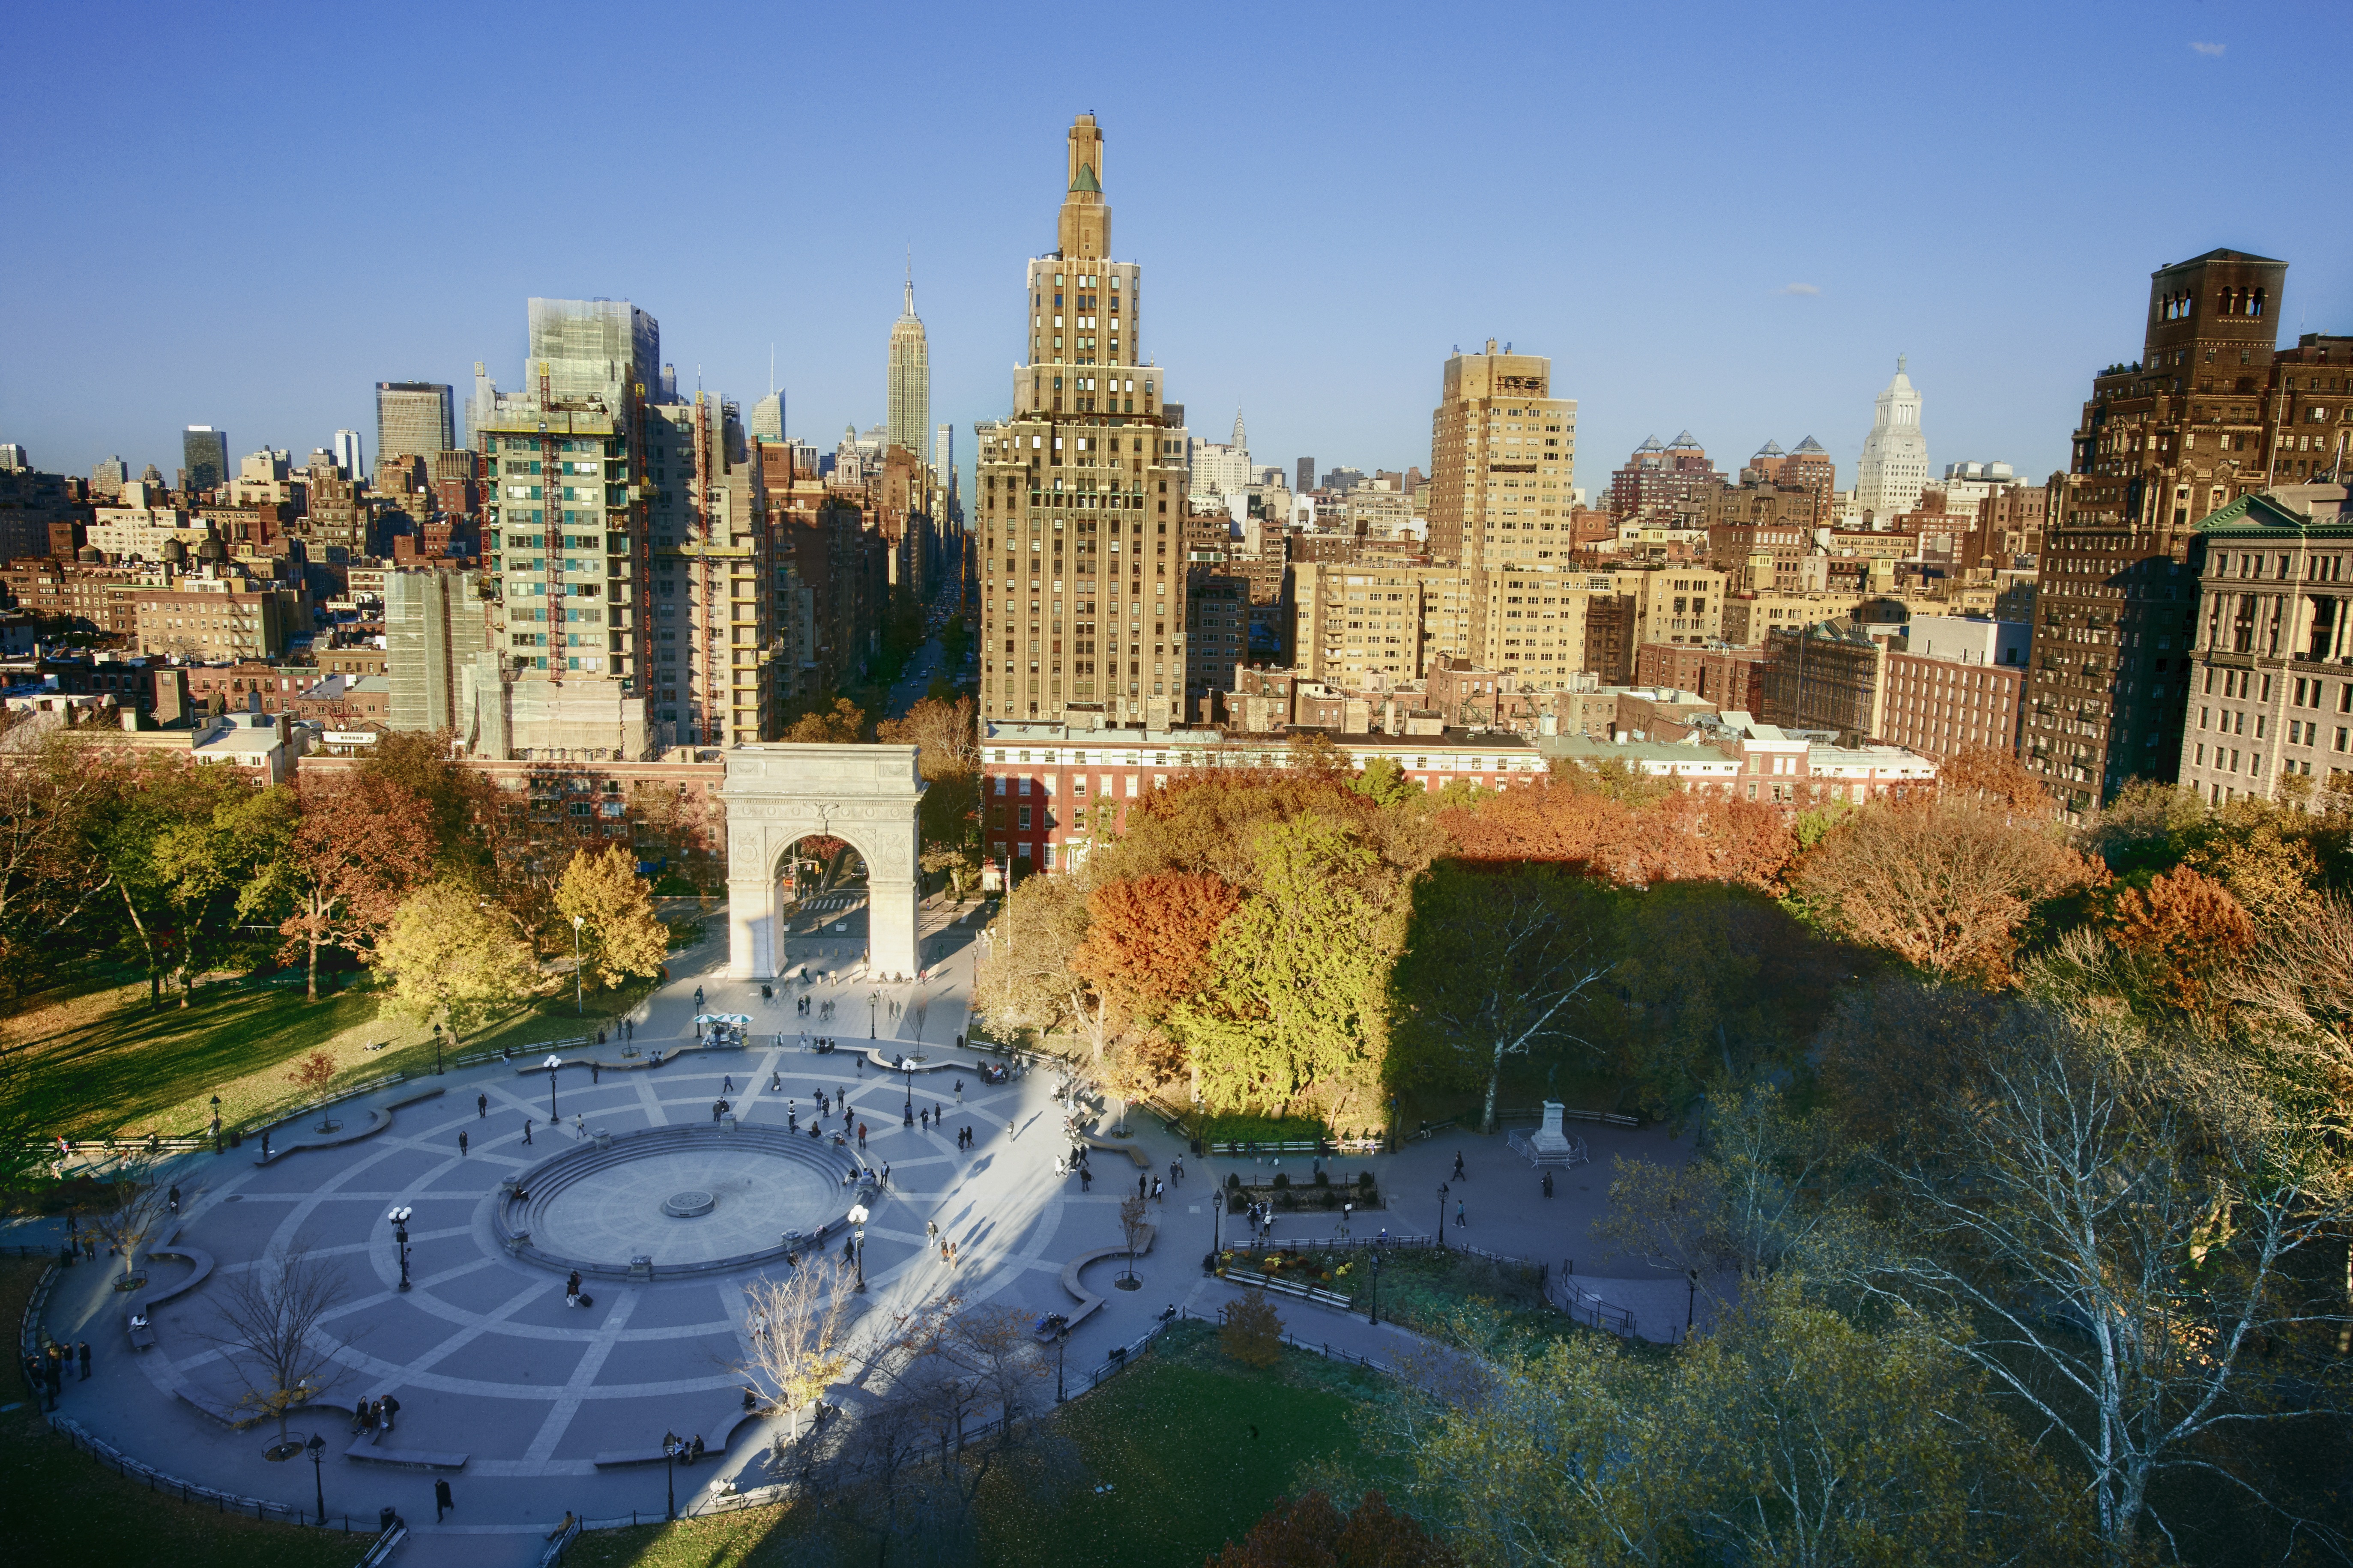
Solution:
[[(849, 930), (833, 930), (847, 921)], [(816, 925), (816, 932), (805, 930)], [(725, 918), (711, 921), (713, 932)], [(442, 1088), (440, 1095), (398, 1104), (391, 1125), (372, 1137), (280, 1154), (254, 1163), (254, 1147), (221, 1156), (188, 1156), (169, 1180), (184, 1191), (176, 1243), (207, 1253), (216, 1278), (254, 1267), (273, 1248), (308, 1248), (339, 1264), (348, 1300), (329, 1318), (341, 1380), (327, 1391), (339, 1408), (299, 1410), (292, 1420), (304, 1436), (329, 1441), (327, 1509), (374, 1519), (379, 1507), (398, 1507), (421, 1535), (440, 1533), (431, 1547), (435, 1563), (529, 1561), (536, 1533), (565, 1511), (593, 1519), (664, 1509), (659, 1462), (616, 1464), (624, 1453), (647, 1453), (664, 1431), (704, 1436), (725, 1453), (680, 1469), (680, 1504), (713, 1490), (751, 1488), (767, 1479), (765, 1446), (772, 1424), (741, 1420), (744, 1382), (732, 1366), (744, 1356), (744, 1285), (758, 1269), (668, 1274), (711, 1260), (774, 1248), (784, 1231), (814, 1231), (838, 1220), (854, 1191), (845, 1191), (831, 1165), (781, 1158), (741, 1147), (713, 1123), (713, 1102), (725, 1099), (734, 1121), (760, 1137), (781, 1135), (788, 1123), (807, 1130), (816, 1095), (847, 1107), (849, 1140), (838, 1156), (847, 1168), (856, 1128), (866, 1128), (864, 1161), (889, 1168), (889, 1182), (873, 1201), (866, 1227), (866, 1281), (859, 1333), (887, 1333), (908, 1307), (955, 1293), (965, 1302), (1012, 1304), (1024, 1311), (1068, 1311), (1064, 1267), (1120, 1243), (1118, 1203), (1132, 1196), (1136, 1165), (1118, 1151), (1092, 1158), (1094, 1191), (1075, 1177), (1054, 1175), (1061, 1114), (1052, 1102), (1054, 1078), (1033, 1071), (986, 1088), (976, 1071), (929, 1067), (915, 1074), (878, 1071), (864, 1050), (819, 1055), (802, 1045), (802, 1029), (833, 1034), (845, 1048), (866, 1045), (873, 998), (875, 1038), (885, 1055), (913, 1052), (915, 1001), (927, 1001), (925, 1041), (929, 1057), (955, 1057), (953, 1041), (967, 1029), (967, 998), (979, 916), (944, 904), (922, 911), (927, 984), (873, 984), (859, 972), (856, 911), (826, 911), (795, 928), (795, 963), (828, 972), (809, 991), (807, 1019), (795, 1010), (798, 986), (776, 984), (762, 998), (758, 984), (725, 977), (725, 942), (680, 954), (673, 979), (633, 1017), (640, 1052), (689, 1048), (640, 1067), (621, 1055), (614, 1038), (584, 1052), (602, 1067), (555, 1074), (555, 1116), (544, 1069), (489, 1064), (449, 1071), (424, 1085), (409, 1083), (348, 1107), (376, 1109)], [(744, 1050), (692, 1050), (696, 989), (704, 1012), (753, 1017)], [(882, 996), (875, 998), (875, 991)], [(901, 1003), (892, 1017), (889, 1003)], [(816, 1022), (833, 1003), (831, 1024)], [(645, 1057), (635, 1057), (642, 1062)], [(969, 1059), (969, 1057), (967, 1057)], [(962, 1081), (958, 1097), (955, 1083)], [(487, 1097), (487, 1114), (475, 1099)], [(906, 1125), (906, 1109), (932, 1109), (932, 1128)], [(525, 1144), (525, 1123), (532, 1142)], [(840, 1111), (824, 1121), (814, 1149), (833, 1149), (845, 1128)], [(972, 1147), (958, 1147), (958, 1130), (972, 1130)], [(595, 1149), (605, 1135), (626, 1149), (652, 1130), (675, 1130), (647, 1140), (642, 1158), (631, 1156), (605, 1170), (560, 1184), (553, 1196), (532, 1194), (532, 1248), (598, 1260), (614, 1276), (588, 1278), (593, 1307), (565, 1302), (565, 1276), (499, 1243), (501, 1184), (532, 1172), (569, 1149)], [(1132, 1142), (1148, 1170), (1169, 1180), (1184, 1149), (1158, 1121), (1134, 1116)], [(459, 1151), (459, 1135), (466, 1149)], [(1593, 1253), (1586, 1224), (1600, 1212), (1612, 1151), (1675, 1158), (1678, 1149), (1657, 1132), (1586, 1130), (1595, 1163), (1560, 1172), (1555, 1198), (1539, 1196), (1527, 1165), (1487, 1137), (1412, 1144), (1407, 1154), (1339, 1161), (1334, 1175), (1353, 1180), (1374, 1168), (1391, 1196), (1391, 1210), (1358, 1217), (1365, 1227), (1395, 1234), (1428, 1234), (1438, 1217), (1438, 1184), (1464, 1151), (1471, 1180), (1454, 1182), (1466, 1201), (1468, 1238), (1497, 1253), (1553, 1262), (1577, 1260), (1579, 1274), (1626, 1276), (1649, 1271)], [(798, 1149), (795, 1149), (798, 1154)], [(1238, 1161), (1249, 1165), (1249, 1161)], [(1308, 1161), (1294, 1161), (1306, 1175)], [(1172, 1184), (1155, 1205), (1158, 1236), (1141, 1260), (1141, 1290), (1113, 1290), (1118, 1260), (1089, 1264), (1085, 1285), (1106, 1297), (1071, 1340), (1071, 1366), (1094, 1366), (1113, 1344), (1141, 1335), (1169, 1304), (1214, 1311), (1224, 1285), (1202, 1278), (1217, 1217), (1207, 1191), (1233, 1161), (1186, 1158), (1186, 1180)], [(704, 1205), (701, 1201), (708, 1201)], [(412, 1290), (402, 1293), (400, 1260), (388, 1210), (407, 1205)], [(685, 1215), (666, 1212), (685, 1208)], [(955, 1243), (955, 1267), (941, 1262), (927, 1241), (939, 1227)], [(1275, 1224), (1285, 1236), (1322, 1236), (1325, 1217), (1289, 1217)], [(12, 1238), (33, 1238), (26, 1234)], [(838, 1245), (838, 1231), (835, 1241)], [(169, 1245), (165, 1248), (172, 1250)], [(652, 1278), (628, 1278), (631, 1260), (649, 1257)], [(89, 1340), (96, 1375), (68, 1382), (64, 1413), (125, 1453), (169, 1474), (224, 1490), (282, 1502), (311, 1500), (306, 1464), (275, 1464), (264, 1448), (273, 1429), (231, 1431), (200, 1406), (228, 1406), (238, 1382), (221, 1354), (205, 1340), (212, 1326), (212, 1281), (155, 1309), (155, 1349), (134, 1351), (125, 1337), (122, 1295), (108, 1288), (111, 1271), (82, 1264), (59, 1278), (49, 1302), (49, 1330), (61, 1340)], [(158, 1260), (151, 1283), (169, 1285), (191, 1264)], [(769, 1264), (769, 1267), (784, 1267)], [(1680, 1278), (1642, 1278), (1614, 1285), (1617, 1304), (1635, 1311), (1673, 1311), (1685, 1302)], [(1304, 1340), (1334, 1340), (1360, 1354), (1386, 1354), (1386, 1326), (1374, 1330), (1313, 1307), (1285, 1304), (1285, 1316)], [(1329, 1318), (1329, 1321), (1325, 1321)], [(400, 1420), (374, 1446), (351, 1436), (351, 1403), (393, 1394)], [(835, 1403), (856, 1410), (856, 1387), (835, 1391)], [(419, 1469), (405, 1455), (464, 1455), (461, 1469)], [(607, 1464), (598, 1464), (600, 1455)], [(447, 1476), (456, 1511), (433, 1523), (433, 1479)]]

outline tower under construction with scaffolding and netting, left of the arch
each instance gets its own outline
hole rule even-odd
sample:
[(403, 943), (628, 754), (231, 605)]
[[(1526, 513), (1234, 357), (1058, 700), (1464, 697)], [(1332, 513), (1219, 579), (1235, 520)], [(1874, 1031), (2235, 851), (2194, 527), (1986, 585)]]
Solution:
[(532, 299), (522, 391), (475, 405), (492, 659), (475, 746), (494, 758), (647, 756), (647, 384), (661, 325), (626, 299)]

